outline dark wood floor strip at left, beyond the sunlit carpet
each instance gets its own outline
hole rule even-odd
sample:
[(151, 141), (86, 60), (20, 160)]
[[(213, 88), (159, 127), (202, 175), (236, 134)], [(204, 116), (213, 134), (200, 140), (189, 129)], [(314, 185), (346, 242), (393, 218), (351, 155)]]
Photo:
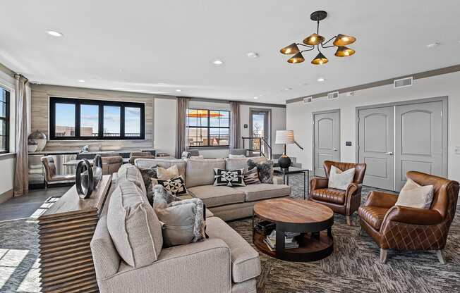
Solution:
[(30, 190), (24, 197), (13, 197), (0, 204), (0, 221), (15, 220), (19, 218), (29, 218), (49, 197), (60, 197), (71, 188), (51, 187), (48, 189)]

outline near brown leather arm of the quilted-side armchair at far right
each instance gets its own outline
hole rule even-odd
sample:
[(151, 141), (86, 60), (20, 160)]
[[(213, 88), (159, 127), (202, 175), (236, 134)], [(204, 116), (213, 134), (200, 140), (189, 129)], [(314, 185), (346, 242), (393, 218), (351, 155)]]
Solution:
[(410, 208), (408, 206), (393, 206), (387, 211), (382, 227), (388, 221), (411, 225), (436, 225), (442, 222), (442, 216), (436, 210)]

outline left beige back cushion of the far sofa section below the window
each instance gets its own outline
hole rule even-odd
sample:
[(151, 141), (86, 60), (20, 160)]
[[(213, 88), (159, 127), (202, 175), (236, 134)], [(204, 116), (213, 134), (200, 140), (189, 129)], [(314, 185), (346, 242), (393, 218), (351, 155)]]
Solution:
[(214, 183), (214, 168), (225, 169), (225, 160), (223, 158), (187, 160), (186, 187), (212, 185)]

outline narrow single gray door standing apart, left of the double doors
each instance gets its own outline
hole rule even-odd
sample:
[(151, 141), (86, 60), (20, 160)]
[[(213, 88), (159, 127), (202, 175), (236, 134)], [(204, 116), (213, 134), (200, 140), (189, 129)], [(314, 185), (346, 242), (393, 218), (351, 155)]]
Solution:
[(340, 113), (313, 114), (313, 156), (315, 176), (325, 177), (324, 161), (340, 161)]

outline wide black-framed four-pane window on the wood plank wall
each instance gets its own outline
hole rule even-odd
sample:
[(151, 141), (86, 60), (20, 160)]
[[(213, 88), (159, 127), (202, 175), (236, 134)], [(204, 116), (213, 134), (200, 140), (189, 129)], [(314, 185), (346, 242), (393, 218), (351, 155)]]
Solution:
[(145, 105), (49, 98), (50, 139), (145, 139)]

